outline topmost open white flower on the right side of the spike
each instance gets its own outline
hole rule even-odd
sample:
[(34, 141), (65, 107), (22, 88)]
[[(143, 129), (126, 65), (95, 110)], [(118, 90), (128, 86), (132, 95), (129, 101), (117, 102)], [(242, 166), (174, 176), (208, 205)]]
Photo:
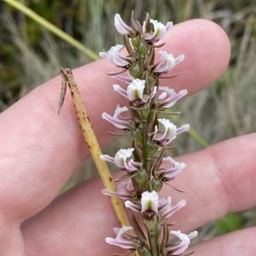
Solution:
[(161, 22), (158, 22), (158, 20), (152, 20), (150, 19), (150, 23), (154, 26), (154, 32), (145, 32), (146, 31), (146, 25), (145, 21), (143, 22), (143, 33), (144, 38), (150, 43), (158, 42), (160, 39), (164, 38), (166, 36), (166, 32), (172, 27), (172, 22), (167, 22), (166, 26), (162, 24)]

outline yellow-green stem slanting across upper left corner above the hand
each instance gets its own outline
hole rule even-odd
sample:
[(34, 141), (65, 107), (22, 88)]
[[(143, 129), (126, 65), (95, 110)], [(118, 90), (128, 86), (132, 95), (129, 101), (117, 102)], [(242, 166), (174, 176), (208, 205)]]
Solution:
[(67, 43), (73, 45), (75, 48), (83, 51), (84, 54), (88, 55), (92, 60), (96, 61), (99, 59), (99, 56), (96, 55), (92, 50), (86, 48), (84, 44), (79, 43), (79, 41), (69, 36), (66, 32), (63, 32), (57, 26), (52, 25), (51, 23), (49, 23), (49, 21), (44, 20), (44, 18), (42, 18), (41, 16), (33, 12), (32, 9), (27, 8), (25, 5), (15, 0), (3, 0), (3, 1), (6, 3), (9, 3), (11, 6), (15, 7), (15, 9), (19, 9), (23, 14), (27, 15), (32, 20), (35, 20), (36, 22), (38, 22), (38, 24), (44, 26), (50, 32), (53, 32), (59, 38), (62, 38)]

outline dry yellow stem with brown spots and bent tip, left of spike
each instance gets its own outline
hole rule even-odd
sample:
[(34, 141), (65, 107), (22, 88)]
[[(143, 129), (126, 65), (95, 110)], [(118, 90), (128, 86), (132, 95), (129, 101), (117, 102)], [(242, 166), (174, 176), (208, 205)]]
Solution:
[[(96, 164), (98, 172), (102, 178), (102, 182), (106, 189), (116, 191), (115, 185), (113, 183), (113, 178), (111, 177), (111, 173), (109, 172), (106, 162), (100, 160), (100, 156), (102, 155), (102, 149), (100, 148), (100, 145), (97, 142), (95, 132), (93, 131), (92, 126), (90, 124), (90, 119), (85, 111), (84, 103), (82, 101), (78, 86), (75, 80), (73, 79), (73, 73), (69, 68), (61, 68), (61, 96), (58, 113), (60, 113), (61, 107), (64, 102), (64, 98), (67, 91), (67, 85), (71, 92), (73, 105), (76, 109), (76, 113), (79, 119), (79, 125), (81, 127), (81, 130), (83, 131), (85, 142), (87, 143), (88, 148), (90, 149), (90, 154)], [(112, 196), (110, 197), (110, 200), (112, 202), (113, 209), (116, 212), (117, 217), (119, 218), (120, 224), (122, 226), (130, 226), (122, 202), (119, 201), (118, 198)], [(135, 253), (134, 255), (137, 255), (137, 253)]]

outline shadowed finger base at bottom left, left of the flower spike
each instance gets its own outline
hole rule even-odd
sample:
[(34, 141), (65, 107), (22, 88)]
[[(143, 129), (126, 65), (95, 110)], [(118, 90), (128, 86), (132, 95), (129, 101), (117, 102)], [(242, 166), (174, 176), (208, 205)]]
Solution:
[(121, 253), (105, 242), (107, 236), (114, 236), (113, 227), (119, 222), (102, 188), (98, 180), (84, 182), (26, 220), (21, 226), (26, 255)]

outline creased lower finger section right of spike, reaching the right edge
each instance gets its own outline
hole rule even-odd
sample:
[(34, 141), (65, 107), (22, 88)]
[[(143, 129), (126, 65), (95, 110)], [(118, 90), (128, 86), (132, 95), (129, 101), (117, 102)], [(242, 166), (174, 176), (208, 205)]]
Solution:
[(177, 229), (194, 230), (228, 212), (256, 205), (256, 197), (248, 196), (256, 193), (255, 139), (255, 133), (236, 137), (177, 158), (187, 167), (173, 184), (187, 193), (166, 191), (176, 201), (188, 202), (175, 217)]

